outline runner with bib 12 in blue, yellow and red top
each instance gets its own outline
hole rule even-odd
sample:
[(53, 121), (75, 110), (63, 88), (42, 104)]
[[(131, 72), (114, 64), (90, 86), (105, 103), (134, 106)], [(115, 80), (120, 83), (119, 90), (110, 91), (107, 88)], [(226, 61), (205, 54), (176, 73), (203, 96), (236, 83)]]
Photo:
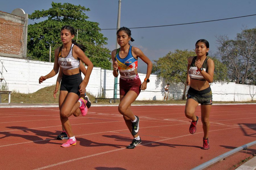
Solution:
[[(139, 132), (139, 117), (133, 115), (131, 111), (131, 104), (138, 97), (140, 90), (147, 88), (149, 82), (149, 76), (152, 70), (152, 62), (147, 58), (143, 52), (129, 44), (129, 41), (134, 41), (131, 38), (131, 30), (126, 27), (122, 27), (117, 31), (117, 42), (120, 45), (119, 49), (113, 50), (113, 75), (119, 79), (120, 89), (120, 104), (118, 111), (123, 115), (125, 124), (133, 136), (132, 143), (127, 146), (128, 149), (135, 148), (141, 143)], [(141, 83), (138, 75), (138, 58), (142, 59), (147, 64), (147, 74), (143, 83)]]

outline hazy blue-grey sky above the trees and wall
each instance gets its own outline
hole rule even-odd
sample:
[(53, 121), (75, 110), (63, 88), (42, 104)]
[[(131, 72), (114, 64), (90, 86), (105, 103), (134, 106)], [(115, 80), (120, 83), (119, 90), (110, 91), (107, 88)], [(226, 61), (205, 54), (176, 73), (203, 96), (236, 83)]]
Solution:
[[(0, 0), (0, 11), (11, 13), (21, 8), (31, 14), (51, 8), (53, 0)], [(118, 0), (54, 0), (55, 3), (72, 3), (89, 8), (85, 12), (91, 22), (99, 23), (99, 28), (116, 28)], [(121, 0), (121, 27), (150, 27), (171, 24), (202, 22), (256, 14), (255, 0)], [(29, 24), (35, 21), (29, 20)], [(235, 39), (244, 28), (255, 28), (256, 16), (245, 18), (166, 26), (131, 29), (132, 46), (140, 48), (151, 60), (164, 57), (174, 50), (194, 50), (199, 39), (210, 43), (209, 54), (217, 53), (217, 37), (226, 35)], [(105, 47), (116, 48), (116, 30), (102, 30), (108, 38)], [(147, 65), (139, 59), (138, 70), (146, 73)]]

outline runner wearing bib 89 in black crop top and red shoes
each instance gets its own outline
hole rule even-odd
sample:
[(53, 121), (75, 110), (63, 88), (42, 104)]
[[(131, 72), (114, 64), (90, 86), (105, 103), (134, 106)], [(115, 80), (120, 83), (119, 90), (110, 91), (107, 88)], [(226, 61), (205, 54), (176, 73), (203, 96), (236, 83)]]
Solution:
[(210, 128), (209, 116), (212, 105), (210, 84), (213, 81), (214, 62), (208, 58), (209, 43), (205, 39), (196, 42), (196, 56), (188, 57), (187, 84), (189, 85), (185, 116), (192, 120), (189, 132), (196, 132), (198, 116), (195, 110), (201, 104), (201, 120), (203, 123), (203, 149), (209, 149), (208, 133)]

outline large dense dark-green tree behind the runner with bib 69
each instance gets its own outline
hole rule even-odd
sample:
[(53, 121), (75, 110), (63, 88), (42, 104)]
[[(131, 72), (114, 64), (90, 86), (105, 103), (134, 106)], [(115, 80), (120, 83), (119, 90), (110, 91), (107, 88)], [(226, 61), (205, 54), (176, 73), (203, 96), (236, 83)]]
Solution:
[(28, 26), (27, 56), (41, 61), (49, 61), (49, 42), (52, 46), (52, 59), (54, 60), (54, 49), (61, 46), (60, 29), (64, 25), (70, 25), (78, 31), (77, 43), (86, 47), (85, 54), (93, 62), (94, 66), (109, 69), (111, 56), (110, 50), (105, 48), (107, 38), (100, 33), (97, 22), (88, 20), (85, 12), (90, 11), (81, 5), (70, 3), (54, 3), (48, 10), (35, 11), (29, 15), (29, 19), (46, 20)]

